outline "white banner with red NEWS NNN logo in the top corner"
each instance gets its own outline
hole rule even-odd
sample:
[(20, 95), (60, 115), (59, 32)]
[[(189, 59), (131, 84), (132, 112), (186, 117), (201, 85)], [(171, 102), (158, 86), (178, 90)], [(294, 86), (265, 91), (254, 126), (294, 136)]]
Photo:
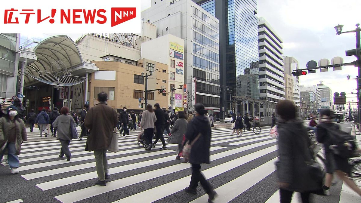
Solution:
[(114, 1), (2, 1), (0, 27), (3, 33), (140, 33), (141, 0)]

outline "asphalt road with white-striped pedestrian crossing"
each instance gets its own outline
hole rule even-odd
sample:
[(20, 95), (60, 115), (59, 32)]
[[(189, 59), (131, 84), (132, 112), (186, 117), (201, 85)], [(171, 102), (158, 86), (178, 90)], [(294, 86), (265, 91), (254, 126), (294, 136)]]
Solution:
[[(216, 202), (279, 202), (274, 167), (277, 143), (269, 137), (270, 127), (262, 127), (259, 135), (248, 132), (236, 137), (230, 135), (230, 127), (222, 126), (212, 131), (211, 164), (202, 165), (219, 194)], [(341, 126), (351, 131), (350, 124)], [(136, 133), (119, 138), (119, 152), (108, 153), (110, 179), (105, 187), (94, 186), (95, 160), (92, 152), (84, 151), (85, 140), (71, 141), (69, 162), (57, 157), (60, 143), (54, 139), (23, 143), (19, 174), (10, 174), (8, 166), (0, 164), (0, 203), (19, 199), (36, 203), (207, 202), (200, 186), (197, 195), (183, 191), (189, 185), (191, 165), (175, 159), (177, 146), (168, 144), (161, 150), (158, 144), (149, 152), (136, 145)], [(339, 202), (341, 186), (338, 181), (331, 196), (316, 196), (313, 202)]]

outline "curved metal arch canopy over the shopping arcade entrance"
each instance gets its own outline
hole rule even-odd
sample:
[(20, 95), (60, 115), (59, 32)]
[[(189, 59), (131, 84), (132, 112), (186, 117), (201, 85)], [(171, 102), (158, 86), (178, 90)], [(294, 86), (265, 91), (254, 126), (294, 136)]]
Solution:
[(71, 74), (83, 66), (77, 45), (68, 36), (52, 36), (40, 42), (32, 51), (38, 59), (27, 64), (25, 83), (40, 81), (48, 85), (64, 87), (86, 81), (85, 77)]

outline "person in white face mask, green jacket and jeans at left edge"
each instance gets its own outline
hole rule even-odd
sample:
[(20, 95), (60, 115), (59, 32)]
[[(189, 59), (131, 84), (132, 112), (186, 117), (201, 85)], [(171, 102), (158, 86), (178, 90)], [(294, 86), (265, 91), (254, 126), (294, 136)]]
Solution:
[(23, 141), (27, 141), (24, 121), (18, 117), (18, 108), (9, 106), (6, 115), (0, 118), (0, 160), (8, 154), (12, 174), (19, 173), (18, 155)]

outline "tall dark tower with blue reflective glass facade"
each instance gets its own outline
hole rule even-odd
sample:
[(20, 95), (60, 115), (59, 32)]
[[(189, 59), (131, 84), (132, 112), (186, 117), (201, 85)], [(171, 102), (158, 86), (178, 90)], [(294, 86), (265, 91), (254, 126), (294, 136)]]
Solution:
[(221, 106), (240, 109), (231, 109), (233, 96), (259, 99), (257, 0), (193, 1), (219, 20)]

